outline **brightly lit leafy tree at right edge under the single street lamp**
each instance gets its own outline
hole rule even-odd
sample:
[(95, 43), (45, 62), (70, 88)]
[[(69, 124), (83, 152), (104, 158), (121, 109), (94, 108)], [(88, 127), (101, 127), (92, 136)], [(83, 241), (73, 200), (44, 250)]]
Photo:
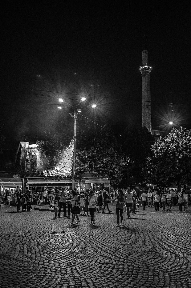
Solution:
[(151, 147), (144, 174), (161, 186), (183, 185), (191, 181), (191, 131), (173, 128)]

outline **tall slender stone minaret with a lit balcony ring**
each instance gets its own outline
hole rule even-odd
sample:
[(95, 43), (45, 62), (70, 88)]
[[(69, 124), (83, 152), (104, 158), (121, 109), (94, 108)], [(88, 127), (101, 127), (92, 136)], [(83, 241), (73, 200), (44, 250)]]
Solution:
[(142, 74), (142, 121), (143, 127), (145, 126), (151, 132), (151, 88), (150, 88), (150, 73), (151, 66), (148, 66), (148, 51), (143, 50), (143, 66), (140, 67)]

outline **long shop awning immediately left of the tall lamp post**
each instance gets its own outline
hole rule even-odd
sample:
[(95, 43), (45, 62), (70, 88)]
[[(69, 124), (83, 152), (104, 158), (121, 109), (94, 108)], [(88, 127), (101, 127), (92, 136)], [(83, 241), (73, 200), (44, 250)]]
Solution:
[(71, 186), (72, 181), (71, 179), (66, 180), (55, 180), (55, 179), (28, 179), (29, 186), (56, 186), (56, 187), (62, 187), (62, 186)]

